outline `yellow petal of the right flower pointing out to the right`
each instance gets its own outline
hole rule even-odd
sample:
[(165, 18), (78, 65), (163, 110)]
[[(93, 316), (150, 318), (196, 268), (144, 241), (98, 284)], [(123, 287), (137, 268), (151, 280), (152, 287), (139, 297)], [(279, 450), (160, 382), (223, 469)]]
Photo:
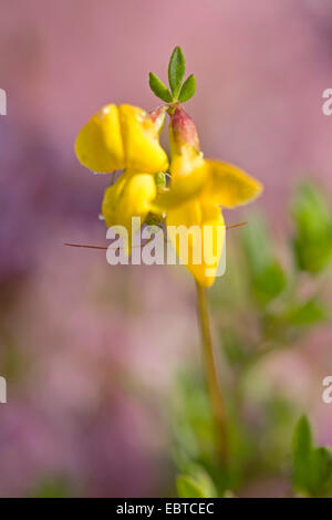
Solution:
[(209, 180), (204, 197), (208, 200), (234, 208), (261, 194), (262, 185), (237, 166), (211, 159), (206, 160), (206, 164), (209, 168)]

